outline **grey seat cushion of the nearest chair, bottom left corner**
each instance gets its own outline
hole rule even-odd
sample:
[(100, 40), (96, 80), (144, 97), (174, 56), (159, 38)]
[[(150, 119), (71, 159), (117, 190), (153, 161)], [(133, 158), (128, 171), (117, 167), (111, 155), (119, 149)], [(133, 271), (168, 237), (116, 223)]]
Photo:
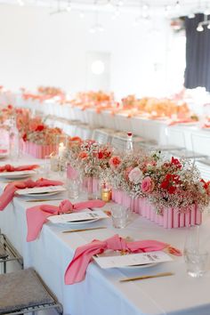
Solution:
[(0, 314), (53, 302), (33, 269), (0, 275)]

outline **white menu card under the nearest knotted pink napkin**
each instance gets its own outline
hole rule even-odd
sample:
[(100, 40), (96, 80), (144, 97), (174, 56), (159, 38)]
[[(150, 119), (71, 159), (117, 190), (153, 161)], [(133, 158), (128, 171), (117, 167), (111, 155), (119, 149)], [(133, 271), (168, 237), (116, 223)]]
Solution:
[(151, 263), (165, 263), (173, 261), (172, 257), (162, 251), (124, 254), (112, 256), (94, 256), (93, 259), (101, 268), (123, 268)]

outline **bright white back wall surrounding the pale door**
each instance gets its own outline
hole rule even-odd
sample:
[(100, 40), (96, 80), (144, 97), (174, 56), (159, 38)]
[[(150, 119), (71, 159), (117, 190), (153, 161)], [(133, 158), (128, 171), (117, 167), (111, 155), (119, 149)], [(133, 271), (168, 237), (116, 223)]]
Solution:
[(168, 21), (133, 27), (133, 14), (112, 20), (103, 12), (99, 20), (105, 31), (91, 34), (94, 12), (86, 12), (83, 20), (78, 12), (49, 12), (0, 6), (0, 85), (12, 90), (54, 85), (75, 93), (85, 90), (86, 53), (110, 52), (110, 90), (117, 96), (168, 92)]

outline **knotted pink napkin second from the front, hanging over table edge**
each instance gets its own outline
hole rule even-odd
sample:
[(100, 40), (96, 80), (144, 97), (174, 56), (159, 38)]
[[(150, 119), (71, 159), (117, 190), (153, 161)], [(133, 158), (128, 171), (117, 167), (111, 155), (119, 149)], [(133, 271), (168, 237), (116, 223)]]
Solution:
[(65, 214), (69, 212), (83, 210), (85, 208), (90, 207), (101, 207), (105, 206), (105, 204), (106, 203), (102, 200), (88, 200), (73, 205), (69, 200), (63, 200), (60, 206), (52, 205), (32, 206), (27, 209), (28, 224), (27, 241), (30, 242), (37, 238), (48, 216)]

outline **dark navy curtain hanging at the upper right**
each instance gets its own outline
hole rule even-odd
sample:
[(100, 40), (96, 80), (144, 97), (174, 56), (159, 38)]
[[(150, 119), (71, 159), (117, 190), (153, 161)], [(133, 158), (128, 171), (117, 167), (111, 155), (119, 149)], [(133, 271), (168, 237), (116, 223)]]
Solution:
[[(209, 19), (209, 16), (208, 16)], [(185, 17), (186, 28), (186, 69), (184, 86), (193, 89), (206, 87), (210, 92), (210, 29), (204, 26), (198, 32), (198, 22), (204, 20), (204, 14), (196, 14), (194, 19)]]

